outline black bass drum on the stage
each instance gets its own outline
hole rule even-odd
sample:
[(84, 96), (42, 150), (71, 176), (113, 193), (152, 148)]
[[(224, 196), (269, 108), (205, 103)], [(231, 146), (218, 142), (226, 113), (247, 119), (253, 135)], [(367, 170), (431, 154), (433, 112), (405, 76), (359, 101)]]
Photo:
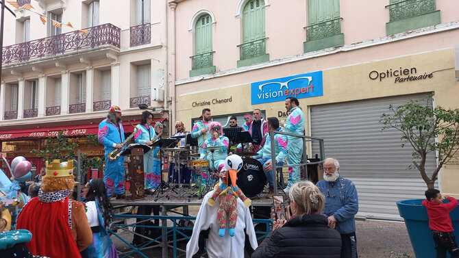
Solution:
[(243, 162), (244, 165), (238, 172), (236, 184), (245, 196), (253, 197), (263, 192), (266, 175), (264, 175), (263, 166), (258, 160), (245, 158)]

